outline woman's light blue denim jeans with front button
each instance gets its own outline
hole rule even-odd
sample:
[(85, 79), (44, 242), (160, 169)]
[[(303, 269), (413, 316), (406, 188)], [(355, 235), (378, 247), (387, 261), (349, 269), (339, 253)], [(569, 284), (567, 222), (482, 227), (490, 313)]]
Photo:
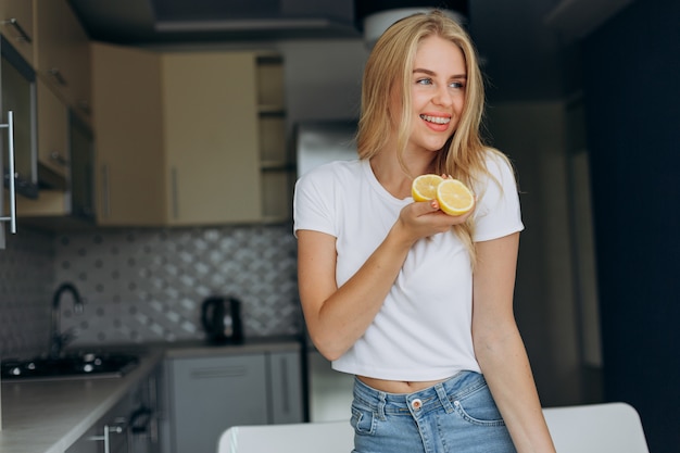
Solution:
[(355, 453), (514, 453), (483, 376), (461, 372), (415, 393), (354, 380)]

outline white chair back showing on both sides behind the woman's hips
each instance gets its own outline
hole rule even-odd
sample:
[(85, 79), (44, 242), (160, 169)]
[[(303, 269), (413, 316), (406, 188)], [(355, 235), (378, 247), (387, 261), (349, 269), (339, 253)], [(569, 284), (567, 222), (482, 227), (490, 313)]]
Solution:
[[(640, 417), (625, 403), (543, 410), (558, 453), (648, 453)], [(217, 453), (350, 453), (349, 420), (234, 426)]]

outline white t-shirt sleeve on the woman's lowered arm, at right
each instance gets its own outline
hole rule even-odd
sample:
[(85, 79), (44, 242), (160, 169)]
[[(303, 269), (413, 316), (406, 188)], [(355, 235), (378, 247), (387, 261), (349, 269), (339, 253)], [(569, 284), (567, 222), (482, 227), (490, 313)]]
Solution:
[(476, 188), (475, 242), (502, 238), (524, 229), (513, 168), (501, 156), (491, 153), (487, 159), (487, 168), (492, 177)]

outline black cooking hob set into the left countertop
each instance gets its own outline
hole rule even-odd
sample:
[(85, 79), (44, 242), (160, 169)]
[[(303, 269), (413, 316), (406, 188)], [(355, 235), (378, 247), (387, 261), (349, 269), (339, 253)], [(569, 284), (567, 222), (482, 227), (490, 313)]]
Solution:
[(28, 360), (4, 360), (2, 380), (63, 380), (119, 378), (133, 370), (139, 357), (122, 353), (78, 353)]

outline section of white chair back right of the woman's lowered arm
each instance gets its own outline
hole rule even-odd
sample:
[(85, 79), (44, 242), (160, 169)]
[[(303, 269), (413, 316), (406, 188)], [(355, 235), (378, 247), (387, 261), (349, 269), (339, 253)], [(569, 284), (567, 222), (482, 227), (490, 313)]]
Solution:
[(648, 453), (638, 412), (626, 403), (543, 410), (557, 453)]

